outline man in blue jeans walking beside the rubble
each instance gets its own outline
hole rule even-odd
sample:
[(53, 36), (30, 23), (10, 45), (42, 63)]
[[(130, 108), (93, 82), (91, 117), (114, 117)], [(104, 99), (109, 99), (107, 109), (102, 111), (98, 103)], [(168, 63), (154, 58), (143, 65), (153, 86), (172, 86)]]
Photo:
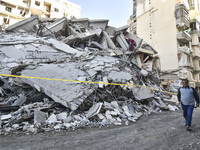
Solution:
[(183, 86), (178, 89), (178, 101), (183, 109), (183, 117), (186, 120), (186, 129), (191, 131), (192, 113), (195, 105), (199, 107), (199, 96), (193, 87), (188, 85), (188, 79), (183, 79)]

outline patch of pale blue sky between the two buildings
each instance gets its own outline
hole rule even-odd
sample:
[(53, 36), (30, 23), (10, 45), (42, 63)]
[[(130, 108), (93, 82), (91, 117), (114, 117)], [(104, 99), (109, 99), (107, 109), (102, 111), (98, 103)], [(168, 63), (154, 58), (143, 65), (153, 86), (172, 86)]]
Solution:
[(108, 25), (121, 27), (133, 12), (133, 0), (69, 0), (81, 6), (81, 18), (108, 19)]

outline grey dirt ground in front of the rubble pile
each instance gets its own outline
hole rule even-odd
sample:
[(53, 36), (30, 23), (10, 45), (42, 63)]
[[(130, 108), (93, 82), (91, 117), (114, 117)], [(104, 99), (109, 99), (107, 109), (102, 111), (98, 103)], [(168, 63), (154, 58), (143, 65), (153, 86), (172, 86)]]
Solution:
[(0, 136), (1, 150), (199, 150), (200, 108), (193, 114), (192, 131), (185, 129), (182, 111), (141, 117), (123, 126), (75, 131)]

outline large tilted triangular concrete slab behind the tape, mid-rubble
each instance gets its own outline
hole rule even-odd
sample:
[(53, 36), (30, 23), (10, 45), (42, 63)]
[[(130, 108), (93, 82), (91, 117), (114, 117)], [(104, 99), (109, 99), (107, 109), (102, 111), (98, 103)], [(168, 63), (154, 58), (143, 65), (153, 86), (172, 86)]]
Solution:
[[(65, 80), (78, 80), (84, 72), (77, 69), (77, 63), (67, 63), (59, 67), (56, 64), (48, 64), (37, 67), (34, 70), (23, 70), (22, 76), (44, 77)], [(40, 87), (41, 92), (51, 97), (55, 102), (76, 110), (81, 103), (95, 90), (94, 85), (85, 83), (64, 82), (55, 80), (22, 79), (32, 87)]]

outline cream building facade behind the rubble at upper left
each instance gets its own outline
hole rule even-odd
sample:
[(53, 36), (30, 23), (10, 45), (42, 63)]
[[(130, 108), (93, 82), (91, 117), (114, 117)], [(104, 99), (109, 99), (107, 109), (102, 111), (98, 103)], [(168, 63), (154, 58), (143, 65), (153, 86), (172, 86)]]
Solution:
[(0, 0), (0, 25), (3, 28), (32, 15), (80, 18), (81, 7), (68, 0)]

